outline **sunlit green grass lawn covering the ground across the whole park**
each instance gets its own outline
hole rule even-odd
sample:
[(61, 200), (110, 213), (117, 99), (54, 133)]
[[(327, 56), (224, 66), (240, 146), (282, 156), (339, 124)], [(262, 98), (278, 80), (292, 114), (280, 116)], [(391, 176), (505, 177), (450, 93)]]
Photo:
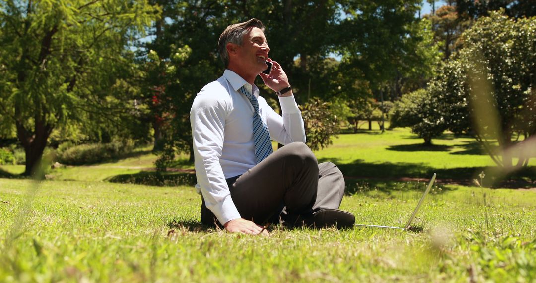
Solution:
[[(349, 177), (341, 208), (358, 224), (400, 227), (425, 182), (398, 177), (470, 178), (492, 165), (468, 138), (420, 143), (405, 129), (358, 133), (316, 154)], [(154, 159), (55, 169), (40, 183), (0, 178), (0, 282), (536, 282), (534, 189), (435, 185), (418, 232), (272, 227), (269, 237), (244, 236), (199, 224), (184, 173), (164, 176), (167, 187), (109, 182), (147, 183)], [(534, 180), (531, 165), (525, 178)]]

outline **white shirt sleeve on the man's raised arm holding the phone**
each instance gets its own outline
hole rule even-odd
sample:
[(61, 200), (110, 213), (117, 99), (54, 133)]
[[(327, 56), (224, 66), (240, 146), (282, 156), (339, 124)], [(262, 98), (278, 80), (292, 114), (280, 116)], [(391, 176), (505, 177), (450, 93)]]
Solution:
[(282, 116), (276, 113), (264, 103), (266, 107), (266, 125), (270, 131), (270, 137), (282, 145), (293, 143), (294, 141), (306, 142), (305, 127), (301, 116), (300, 108), (294, 100), (294, 95), (279, 98)]

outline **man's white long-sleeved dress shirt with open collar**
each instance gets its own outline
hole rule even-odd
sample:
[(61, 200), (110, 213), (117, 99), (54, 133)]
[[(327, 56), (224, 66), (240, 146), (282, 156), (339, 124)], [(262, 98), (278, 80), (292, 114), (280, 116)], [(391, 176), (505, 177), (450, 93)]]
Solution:
[(257, 97), (260, 118), (273, 140), (283, 145), (306, 141), (294, 96), (279, 98), (281, 117), (259, 96), (255, 85), (231, 70), (225, 70), (222, 77), (204, 86), (190, 109), (196, 189), (221, 224), (241, 218), (225, 179), (242, 175), (256, 165), (253, 106), (238, 92), (242, 86)]

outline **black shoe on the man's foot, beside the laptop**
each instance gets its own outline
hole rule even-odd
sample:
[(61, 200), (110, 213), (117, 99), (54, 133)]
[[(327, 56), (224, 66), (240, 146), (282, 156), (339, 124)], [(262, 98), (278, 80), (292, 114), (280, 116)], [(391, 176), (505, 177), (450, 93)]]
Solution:
[(297, 218), (293, 224), (293, 227), (304, 226), (307, 228), (337, 228), (348, 229), (353, 228), (355, 224), (355, 217), (352, 213), (338, 210), (336, 208), (322, 208), (308, 216), (302, 216)]

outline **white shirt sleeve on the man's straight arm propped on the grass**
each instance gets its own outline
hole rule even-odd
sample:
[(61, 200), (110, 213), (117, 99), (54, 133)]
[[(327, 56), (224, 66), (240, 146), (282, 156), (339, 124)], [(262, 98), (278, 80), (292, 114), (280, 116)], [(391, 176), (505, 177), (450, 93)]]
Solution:
[(202, 93), (203, 90), (196, 96), (190, 110), (196, 177), (206, 207), (224, 225), (241, 218), (220, 165), (227, 110), (224, 102)]

